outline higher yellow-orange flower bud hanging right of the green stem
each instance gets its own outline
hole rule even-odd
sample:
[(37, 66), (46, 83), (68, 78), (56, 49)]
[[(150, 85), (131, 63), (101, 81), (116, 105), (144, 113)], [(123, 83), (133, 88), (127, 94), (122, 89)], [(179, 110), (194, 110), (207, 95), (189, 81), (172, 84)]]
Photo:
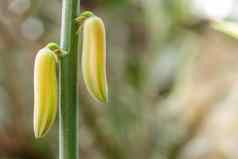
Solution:
[(96, 16), (87, 18), (83, 24), (82, 72), (89, 93), (106, 103), (106, 35), (103, 21)]

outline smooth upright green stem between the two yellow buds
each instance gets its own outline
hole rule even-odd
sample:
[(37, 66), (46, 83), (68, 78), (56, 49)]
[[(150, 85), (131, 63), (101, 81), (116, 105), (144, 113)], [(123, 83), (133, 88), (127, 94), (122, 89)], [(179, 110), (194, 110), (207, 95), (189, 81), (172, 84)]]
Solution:
[(78, 35), (75, 18), (79, 0), (63, 0), (60, 46), (68, 54), (59, 67), (59, 158), (77, 159), (78, 154)]

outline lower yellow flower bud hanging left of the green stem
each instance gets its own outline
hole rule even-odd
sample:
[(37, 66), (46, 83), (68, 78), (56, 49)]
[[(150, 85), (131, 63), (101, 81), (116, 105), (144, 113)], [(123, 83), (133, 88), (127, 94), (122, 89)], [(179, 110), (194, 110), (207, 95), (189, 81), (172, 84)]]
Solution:
[(45, 47), (36, 55), (34, 66), (34, 133), (43, 137), (57, 113), (57, 57)]

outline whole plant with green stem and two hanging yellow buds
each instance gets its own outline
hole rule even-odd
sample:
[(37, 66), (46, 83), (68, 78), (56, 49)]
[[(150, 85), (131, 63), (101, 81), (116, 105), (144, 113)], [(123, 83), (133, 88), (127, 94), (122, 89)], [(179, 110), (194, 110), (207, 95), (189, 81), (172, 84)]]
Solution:
[(63, 0), (60, 46), (49, 43), (38, 52), (35, 60), (35, 136), (40, 138), (46, 135), (54, 123), (58, 104), (60, 159), (77, 159), (79, 156), (77, 31), (81, 30), (79, 28), (84, 26), (84, 22), (84, 81), (89, 93), (97, 101), (106, 103), (108, 100), (104, 23), (90, 11), (78, 16), (79, 6), (79, 0)]

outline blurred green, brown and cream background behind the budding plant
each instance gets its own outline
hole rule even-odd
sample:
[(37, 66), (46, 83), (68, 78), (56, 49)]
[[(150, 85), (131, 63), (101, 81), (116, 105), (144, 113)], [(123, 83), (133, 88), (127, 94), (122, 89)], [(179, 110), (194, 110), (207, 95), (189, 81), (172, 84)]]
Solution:
[[(237, 159), (238, 41), (211, 19), (236, 0), (81, 0), (107, 27), (110, 102), (80, 78), (82, 159)], [(60, 0), (0, 1), (0, 159), (58, 157), (58, 124), (33, 135), (33, 64), (59, 41)], [(79, 65), (80, 66), (80, 65)]]

